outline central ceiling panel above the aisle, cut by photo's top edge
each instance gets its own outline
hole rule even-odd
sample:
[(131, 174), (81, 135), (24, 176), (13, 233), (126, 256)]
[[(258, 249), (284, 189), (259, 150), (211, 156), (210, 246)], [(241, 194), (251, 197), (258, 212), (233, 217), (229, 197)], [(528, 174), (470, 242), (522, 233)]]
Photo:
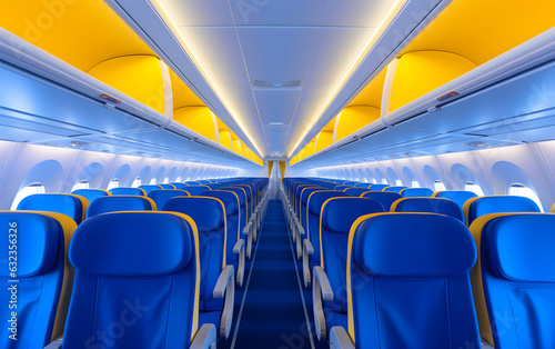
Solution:
[(230, 0), (238, 26), (321, 26), (327, 0)]

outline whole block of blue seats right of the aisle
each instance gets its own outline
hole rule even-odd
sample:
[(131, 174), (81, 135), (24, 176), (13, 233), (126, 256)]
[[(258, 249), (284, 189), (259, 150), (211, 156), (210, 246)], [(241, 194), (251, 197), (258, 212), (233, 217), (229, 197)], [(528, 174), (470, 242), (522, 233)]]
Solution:
[(555, 215), (511, 196), (463, 208), (397, 197), (390, 211), (367, 196), (385, 192), (351, 197), (333, 185), (285, 179), (281, 189), (320, 339), (332, 348), (474, 348), (481, 338), (555, 347)]

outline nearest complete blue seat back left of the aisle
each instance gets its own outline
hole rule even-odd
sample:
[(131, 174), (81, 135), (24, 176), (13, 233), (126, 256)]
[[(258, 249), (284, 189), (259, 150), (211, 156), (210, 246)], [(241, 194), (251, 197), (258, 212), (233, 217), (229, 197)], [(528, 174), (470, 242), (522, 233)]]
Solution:
[(77, 273), (62, 347), (188, 348), (198, 329), (198, 246), (184, 215), (84, 221), (69, 248)]

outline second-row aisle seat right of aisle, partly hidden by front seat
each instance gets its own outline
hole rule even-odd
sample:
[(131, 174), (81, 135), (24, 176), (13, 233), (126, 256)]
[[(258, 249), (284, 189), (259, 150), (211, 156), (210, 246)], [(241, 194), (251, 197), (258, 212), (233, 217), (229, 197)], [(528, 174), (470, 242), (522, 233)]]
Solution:
[(384, 211), (380, 202), (366, 198), (332, 198), (322, 207), (320, 247), (315, 247), (320, 248), (321, 266), (314, 267), (313, 271), (313, 279), (320, 277), (320, 282), (313, 282), (312, 295), (320, 297), (327, 288), (334, 298), (324, 300), (323, 308), (319, 307), (320, 300), (314, 302), (319, 339), (325, 338), (333, 326), (346, 323), (346, 260), (351, 226), (363, 216)]

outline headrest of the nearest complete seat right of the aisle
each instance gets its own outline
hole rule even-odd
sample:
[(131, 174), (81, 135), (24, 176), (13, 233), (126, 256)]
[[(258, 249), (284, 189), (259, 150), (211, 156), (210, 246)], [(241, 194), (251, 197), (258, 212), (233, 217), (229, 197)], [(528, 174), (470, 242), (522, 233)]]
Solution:
[(362, 221), (352, 253), (357, 266), (374, 276), (447, 277), (468, 271), (476, 246), (468, 229), (434, 213), (383, 213)]

